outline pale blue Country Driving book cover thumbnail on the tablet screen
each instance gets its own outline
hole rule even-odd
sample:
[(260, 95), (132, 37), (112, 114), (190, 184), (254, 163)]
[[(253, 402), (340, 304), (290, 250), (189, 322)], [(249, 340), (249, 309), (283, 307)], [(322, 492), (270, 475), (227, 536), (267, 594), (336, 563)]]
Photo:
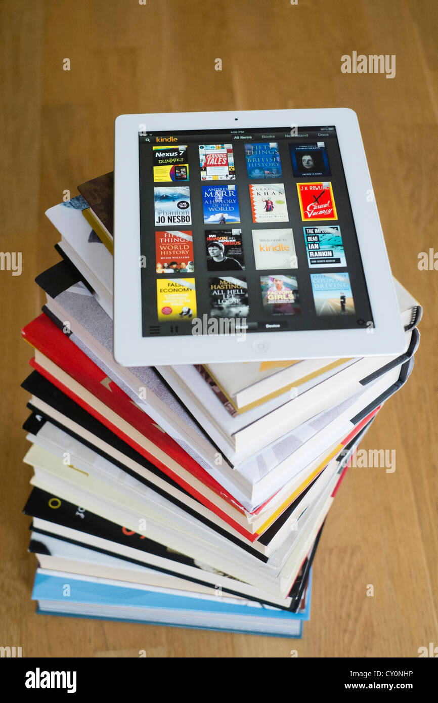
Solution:
[(348, 273), (311, 273), (317, 315), (353, 315), (354, 300)]

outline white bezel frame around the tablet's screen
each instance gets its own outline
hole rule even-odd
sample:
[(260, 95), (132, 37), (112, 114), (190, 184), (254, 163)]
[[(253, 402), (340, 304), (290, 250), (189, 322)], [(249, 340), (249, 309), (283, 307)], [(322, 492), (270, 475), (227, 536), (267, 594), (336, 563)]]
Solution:
[[(336, 127), (374, 327), (241, 335), (143, 337), (139, 131)], [(404, 349), (404, 330), (356, 112), (348, 108), (120, 115), (115, 120), (114, 354), (123, 366), (383, 356)], [(170, 343), (169, 343), (170, 342)]]

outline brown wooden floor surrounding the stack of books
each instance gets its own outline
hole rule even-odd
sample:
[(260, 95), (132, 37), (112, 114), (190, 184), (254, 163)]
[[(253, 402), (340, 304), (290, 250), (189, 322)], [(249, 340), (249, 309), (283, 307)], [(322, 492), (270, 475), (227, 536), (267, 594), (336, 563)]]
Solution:
[[(22, 252), (21, 276), (0, 271), (0, 645), (26, 657), (416, 657), (438, 645), (438, 271), (418, 270), (419, 252), (438, 251), (437, 10), (434, 0), (0, 4), (0, 248)], [(396, 77), (342, 73), (353, 51), (394, 54)], [(424, 316), (413, 374), (363, 444), (395, 449), (396, 470), (349, 470), (304, 638), (37, 616), (21, 515), (30, 349), (20, 328), (43, 304), (34, 276), (58, 260), (44, 210), (112, 169), (121, 113), (323, 107), (359, 116), (392, 271)]]

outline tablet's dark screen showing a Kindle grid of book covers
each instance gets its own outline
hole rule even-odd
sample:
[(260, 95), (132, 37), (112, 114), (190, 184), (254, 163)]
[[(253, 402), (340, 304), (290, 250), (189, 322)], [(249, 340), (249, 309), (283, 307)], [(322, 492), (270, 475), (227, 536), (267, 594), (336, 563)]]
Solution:
[(140, 132), (139, 173), (143, 336), (373, 326), (335, 127)]

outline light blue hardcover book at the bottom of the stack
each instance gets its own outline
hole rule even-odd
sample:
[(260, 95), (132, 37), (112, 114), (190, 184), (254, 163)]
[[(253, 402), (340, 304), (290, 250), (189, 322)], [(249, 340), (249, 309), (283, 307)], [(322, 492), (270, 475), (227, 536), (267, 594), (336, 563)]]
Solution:
[[(228, 632), (301, 637), (310, 617), (311, 572), (306, 606), (291, 613), (259, 602), (200, 595), (143, 584), (37, 569), (32, 599), (41, 614), (65, 614)], [(186, 595), (187, 593), (187, 595)]]

